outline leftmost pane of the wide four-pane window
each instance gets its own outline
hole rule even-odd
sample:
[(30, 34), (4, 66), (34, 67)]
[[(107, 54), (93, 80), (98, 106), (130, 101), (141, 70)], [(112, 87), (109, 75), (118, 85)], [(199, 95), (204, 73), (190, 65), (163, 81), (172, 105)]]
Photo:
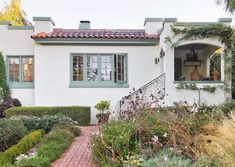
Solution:
[(73, 56), (73, 81), (83, 81), (83, 56)]

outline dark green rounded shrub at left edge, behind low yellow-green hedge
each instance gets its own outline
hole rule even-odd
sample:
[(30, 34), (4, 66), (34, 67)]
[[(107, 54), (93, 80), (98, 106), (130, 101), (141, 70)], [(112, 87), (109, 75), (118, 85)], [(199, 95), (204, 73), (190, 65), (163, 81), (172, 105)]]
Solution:
[(26, 128), (22, 121), (0, 120), (0, 151), (16, 144), (25, 134)]

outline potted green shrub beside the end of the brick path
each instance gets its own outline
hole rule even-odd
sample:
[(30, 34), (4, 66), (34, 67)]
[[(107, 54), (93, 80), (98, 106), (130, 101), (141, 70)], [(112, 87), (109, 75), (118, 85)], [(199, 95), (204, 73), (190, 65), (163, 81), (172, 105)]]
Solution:
[(109, 122), (109, 110), (110, 101), (100, 101), (95, 105), (95, 108), (100, 111), (96, 114), (98, 124), (107, 124)]

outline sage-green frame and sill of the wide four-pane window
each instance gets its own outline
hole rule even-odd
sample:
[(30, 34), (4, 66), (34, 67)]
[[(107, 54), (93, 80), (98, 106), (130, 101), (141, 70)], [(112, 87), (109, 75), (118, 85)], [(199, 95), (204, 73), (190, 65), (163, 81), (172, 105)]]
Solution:
[[(73, 73), (73, 61), (75, 56), (82, 56), (83, 60), (83, 68), (82, 68), (82, 73), (83, 73), (83, 80), (81, 81), (74, 81), (74, 73)], [(88, 61), (88, 56), (96, 56), (97, 57), (97, 81), (88, 81), (88, 67), (87, 67), (87, 61)], [(103, 62), (101, 61), (102, 56), (111, 56), (111, 80), (106, 80), (106, 81), (101, 81), (101, 64), (102, 63), (110, 63), (110, 62)], [(125, 60), (124, 63), (124, 73), (125, 76), (123, 77), (123, 80), (120, 81), (118, 79), (117, 75), (117, 61), (119, 57), (124, 57)], [(78, 59), (78, 58), (77, 58)], [(70, 55), (70, 84), (69, 88), (128, 88), (128, 56), (126, 53), (71, 53)], [(79, 66), (77, 66), (79, 68)], [(107, 68), (107, 67), (106, 67)], [(104, 69), (107, 70), (107, 69)], [(107, 72), (107, 71), (106, 71)], [(107, 76), (106, 76), (107, 77)], [(79, 80), (79, 79), (78, 79)]]

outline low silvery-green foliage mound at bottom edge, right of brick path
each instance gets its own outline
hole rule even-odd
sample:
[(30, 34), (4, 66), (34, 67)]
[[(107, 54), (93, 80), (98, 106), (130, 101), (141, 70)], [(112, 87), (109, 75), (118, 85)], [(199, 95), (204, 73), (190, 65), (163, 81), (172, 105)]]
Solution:
[(151, 158), (144, 158), (142, 162), (144, 167), (193, 167), (190, 159), (182, 157), (177, 151), (162, 149)]

